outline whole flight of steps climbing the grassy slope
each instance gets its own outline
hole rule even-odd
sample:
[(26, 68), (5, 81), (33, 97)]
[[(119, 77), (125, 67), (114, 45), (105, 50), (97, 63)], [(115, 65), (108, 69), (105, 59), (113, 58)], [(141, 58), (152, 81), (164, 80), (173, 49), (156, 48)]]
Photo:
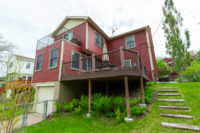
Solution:
[[(157, 92), (161, 92), (158, 93), (157, 96), (159, 97), (176, 97), (176, 96), (180, 96), (183, 97), (181, 94), (178, 94), (177, 92), (179, 92), (179, 90), (177, 90), (177, 87), (160, 87), (159, 89), (163, 89), (163, 90), (157, 90)], [(172, 90), (172, 89), (176, 89), (176, 90)], [(173, 93), (168, 93), (168, 92), (173, 92)], [(160, 105), (159, 108), (160, 109), (165, 109), (165, 113), (161, 113), (160, 115), (162, 117), (167, 118), (171, 118), (171, 119), (193, 119), (193, 117), (191, 115), (186, 115), (186, 114), (171, 114), (171, 113), (166, 113), (169, 112), (168, 110), (172, 110), (173, 112), (177, 112), (179, 110), (182, 111), (188, 111), (189, 107), (186, 106), (176, 106), (174, 104), (178, 104), (178, 103), (184, 103), (184, 99), (158, 99), (158, 102), (161, 104), (163, 102), (165, 103), (173, 103), (172, 105)], [(181, 104), (182, 105), (182, 104)], [(166, 127), (166, 128), (174, 128), (174, 129), (180, 129), (180, 130), (192, 130), (192, 131), (200, 131), (200, 127), (198, 126), (194, 126), (194, 125), (188, 125), (188, 124), (181, 124), (181, 123), (168, 123), (168, 122), (161, 122), (162, 127)]]

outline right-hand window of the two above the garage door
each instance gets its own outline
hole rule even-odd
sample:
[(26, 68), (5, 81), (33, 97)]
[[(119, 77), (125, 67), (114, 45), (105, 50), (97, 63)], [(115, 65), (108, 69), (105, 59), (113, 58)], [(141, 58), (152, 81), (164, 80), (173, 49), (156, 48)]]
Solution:
[(58, 48), (51, 51), (50, 68), (57, 67), (57, 62), (58, 62)]

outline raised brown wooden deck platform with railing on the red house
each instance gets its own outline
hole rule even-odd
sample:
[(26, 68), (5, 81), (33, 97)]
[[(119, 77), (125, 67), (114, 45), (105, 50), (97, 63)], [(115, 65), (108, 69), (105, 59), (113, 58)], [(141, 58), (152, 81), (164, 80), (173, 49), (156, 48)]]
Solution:
[[(126, 62), (128, 61), (128, 62)], [(77, 69), (73, 69), (76, 65)], [(103, 79), (128, 76), (149, 80), (150, 72), (136, 51), (120, 48), (101, 55), (80, 57), (79, 60), (64, 62), (61, 81)]]

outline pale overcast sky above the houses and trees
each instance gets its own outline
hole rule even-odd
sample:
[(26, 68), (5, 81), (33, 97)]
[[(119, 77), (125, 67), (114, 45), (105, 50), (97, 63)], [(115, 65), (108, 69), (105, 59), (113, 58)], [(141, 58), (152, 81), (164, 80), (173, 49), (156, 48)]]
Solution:
[[(0, 34), (18, 45), (17, 53), (35, 57), (37, 40), (50, 34), (65, 16), (90, 16), (108, 35), (150, 25), (155, 33), (164, 0), (1, 0)], [(200, 50), (199, 0), (174, 0), (190, 30), (190, 50)], [(166, 56), (160, 25), (153, 36), (156, 56)]]

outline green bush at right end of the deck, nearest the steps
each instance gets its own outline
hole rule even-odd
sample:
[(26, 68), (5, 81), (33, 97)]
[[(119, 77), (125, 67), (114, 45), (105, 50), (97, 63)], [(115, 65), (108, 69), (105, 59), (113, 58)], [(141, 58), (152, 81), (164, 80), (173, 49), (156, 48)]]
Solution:
[(145, 98), (145, 103), (149, 104), (152, 102), (153, 99), (153, 87), (147, 86), (144, 89), (144, 98)]

